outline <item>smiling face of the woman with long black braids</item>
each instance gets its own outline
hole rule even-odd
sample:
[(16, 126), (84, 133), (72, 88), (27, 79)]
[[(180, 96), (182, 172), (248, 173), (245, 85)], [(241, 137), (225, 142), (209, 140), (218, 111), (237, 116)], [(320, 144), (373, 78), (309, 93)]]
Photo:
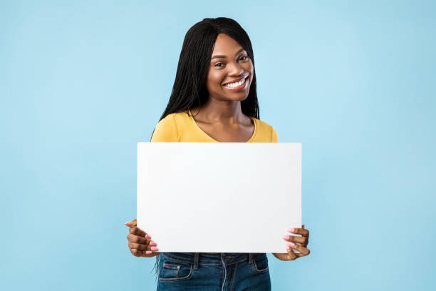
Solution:
[(218, 34), (207, 73), (209, 97), (243, 101), (250, 90), (253, 70), (244, 48), (227, 34)]

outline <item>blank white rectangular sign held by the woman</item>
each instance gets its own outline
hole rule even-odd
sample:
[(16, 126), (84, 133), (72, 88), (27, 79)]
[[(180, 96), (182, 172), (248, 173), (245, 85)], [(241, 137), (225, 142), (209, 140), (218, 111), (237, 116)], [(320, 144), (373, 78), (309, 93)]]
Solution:
[(137, 143), (137, 226), (160, 252), (286, 252), (301, 143)]

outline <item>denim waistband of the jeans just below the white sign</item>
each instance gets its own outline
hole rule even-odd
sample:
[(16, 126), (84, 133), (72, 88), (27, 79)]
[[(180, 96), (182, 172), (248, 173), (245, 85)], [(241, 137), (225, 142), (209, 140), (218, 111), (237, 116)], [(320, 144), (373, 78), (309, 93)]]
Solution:
[(164, 257), (177, 262), (187, 262), (194, 265), (225, 265), (236, 262), (249, 263), (254, 257), (266, 255), (265, 253), (249, 252), (162, 252)]

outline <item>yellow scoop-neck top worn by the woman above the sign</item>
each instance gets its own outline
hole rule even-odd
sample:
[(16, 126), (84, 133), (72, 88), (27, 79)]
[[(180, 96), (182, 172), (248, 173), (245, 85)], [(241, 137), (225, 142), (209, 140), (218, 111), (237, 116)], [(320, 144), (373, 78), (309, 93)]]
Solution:
[[(189, 111), (191, 113), (191, 111)], [(251, 117), (254, 133), (247, 143), (278, 143), (277, 133), (268, 123)], [(152, 142), (219, 143), (205, 133), (186, 111), (171, 113), (156, 125)]]

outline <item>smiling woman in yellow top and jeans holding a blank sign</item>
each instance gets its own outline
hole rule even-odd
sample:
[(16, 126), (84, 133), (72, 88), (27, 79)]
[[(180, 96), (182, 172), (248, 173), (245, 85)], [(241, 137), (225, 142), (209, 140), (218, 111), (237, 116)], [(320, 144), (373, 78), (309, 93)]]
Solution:
[[(151, 141), (278, 142), (274, 128), (259, 120), (251, 41), (236, 21), (203, 19), (187, 31), (170, 101)], [(133, 255), (158, 256), (157, 290), (271, 289), (264, 253), (160, 253), (136, 220), (125, 225)], [(308, 255), (304, 225), (288, 231), (302, 236), (284, 235), (288, 247), (273, 255), (279, 260)]]

